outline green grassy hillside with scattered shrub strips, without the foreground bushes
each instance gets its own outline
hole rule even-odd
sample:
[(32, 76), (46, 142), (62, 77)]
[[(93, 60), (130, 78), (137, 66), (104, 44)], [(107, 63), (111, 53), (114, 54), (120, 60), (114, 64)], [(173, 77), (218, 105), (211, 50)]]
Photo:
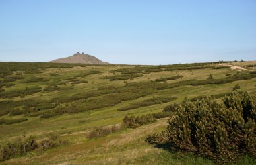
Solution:
[[(135, 129), (123, 127), (123, 118), (159, 113), (185, 97), (221, 98), (237, 84), (238, 91), (256, 93), (253, 71), (230, 70), (218, 62), (168, 66), (1, 62), (0, 77), (0, 146), (30, 135), (36, 135), (38, 142), (53, 135), (67, 141), (0, 164), (214, 164), (146, 143), (146, 136), (164, 129), (168, 118)], [(119, 130), (88, 138), (95, 127), (113, 125)], [(253, 161), (245, 156), (237, 164)]]

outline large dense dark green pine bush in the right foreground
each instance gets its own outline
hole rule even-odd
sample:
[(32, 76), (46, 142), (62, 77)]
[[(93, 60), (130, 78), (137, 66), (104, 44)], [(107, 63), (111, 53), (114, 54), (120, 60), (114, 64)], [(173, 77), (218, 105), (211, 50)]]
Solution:
[(148, 136), (150, 144), (170, 144), (220, 164), (245, 154), (256, 156), (256, 95), (232, 93), (224, 103), (208, 97), (181, 104), (166, 131)]

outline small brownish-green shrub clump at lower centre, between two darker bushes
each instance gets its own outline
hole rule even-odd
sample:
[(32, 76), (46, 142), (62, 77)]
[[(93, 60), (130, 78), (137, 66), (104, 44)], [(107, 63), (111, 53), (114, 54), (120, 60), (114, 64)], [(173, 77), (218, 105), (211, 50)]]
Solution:
[(113, 125), (112, 127), (96, 127), (90, 133), (87, 135), (88, 139), (92, 138), (98, 138), (98, 137), (104, 137), (110, 133), (114, 133), (116, 131), (119, 131), (119, 127), (116, 125)]

